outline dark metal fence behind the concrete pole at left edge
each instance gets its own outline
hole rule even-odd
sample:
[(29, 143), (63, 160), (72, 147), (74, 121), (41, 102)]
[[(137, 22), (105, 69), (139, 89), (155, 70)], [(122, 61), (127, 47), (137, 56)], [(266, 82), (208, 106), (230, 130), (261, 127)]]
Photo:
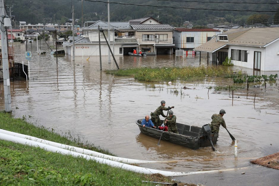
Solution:
[[(28, 77), (28, 65), (23, 65), (22, 67), (22, 63), (14, 63), (14, 66), (9, 68), (9, 75), (10, 81), (26, 80), (26, 75)], [(0, 82), (3, 81), (3, 68), (0, 68)]]

